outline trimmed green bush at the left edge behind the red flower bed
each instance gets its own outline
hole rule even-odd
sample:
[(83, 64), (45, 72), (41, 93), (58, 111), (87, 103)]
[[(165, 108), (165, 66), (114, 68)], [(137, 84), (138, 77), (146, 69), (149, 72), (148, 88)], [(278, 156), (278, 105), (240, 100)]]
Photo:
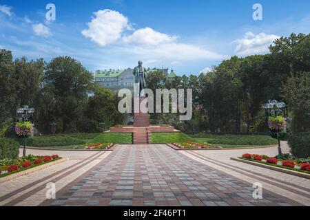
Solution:
[(19, 155), (19, 143), (9, 138), (0, 139), (0, 159), (16, 158)]

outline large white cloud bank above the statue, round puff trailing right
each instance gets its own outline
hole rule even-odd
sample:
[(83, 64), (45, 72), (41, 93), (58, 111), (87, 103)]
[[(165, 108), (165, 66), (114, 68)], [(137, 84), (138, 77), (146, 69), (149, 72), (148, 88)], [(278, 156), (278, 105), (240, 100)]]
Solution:
[[(163, 59), (178, 62), (196, 59), (223, 58), (222, 55), (210, 52), (196, 45), (177, 43), (177, 36), (156, 32), (152, 28), (141, 28), (132, 34), (123, 36), (126, 30), (132, 30), (127, 17), (114, 10), (99, 10), (88, 23), (88, 29), (82, 34), (101, 46), (112, 45), (113, 53), (123, 56), (134, 56), (149, 63), (158, 63)], [(107, 48), (105, 48), (105, 51)], [(126, 55), (125, 55), (126, 54)]]

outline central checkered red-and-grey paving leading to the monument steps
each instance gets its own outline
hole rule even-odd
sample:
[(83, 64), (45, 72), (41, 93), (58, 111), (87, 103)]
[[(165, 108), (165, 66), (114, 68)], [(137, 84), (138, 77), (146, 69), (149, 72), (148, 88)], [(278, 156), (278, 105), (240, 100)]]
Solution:
[[(117, 146), (103, 163), (43, 206), (298, 206), (265, 191), (254, 202), (247, 181), (205, 166), (166, 145)], [(72, 200), (74, 199), (74, 200)]]

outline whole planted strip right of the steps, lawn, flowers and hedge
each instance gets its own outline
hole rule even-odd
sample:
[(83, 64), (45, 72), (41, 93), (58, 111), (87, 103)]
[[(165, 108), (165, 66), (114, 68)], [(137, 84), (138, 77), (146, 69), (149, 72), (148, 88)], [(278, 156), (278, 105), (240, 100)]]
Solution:
[(269, 146), (277, 140), (269, 135), (218, 135), (199, 133), (152, 133), (153, 144), (174, 144), (179, 148), (241, 148)]

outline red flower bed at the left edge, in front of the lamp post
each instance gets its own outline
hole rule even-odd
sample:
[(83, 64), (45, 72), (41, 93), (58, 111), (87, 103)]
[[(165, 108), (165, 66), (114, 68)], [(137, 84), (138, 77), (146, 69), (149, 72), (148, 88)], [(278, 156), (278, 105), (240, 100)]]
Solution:
[(17, 159), (1, 159), (0, 160), (0, 177), (5, 177), (13, 173), (18, 173), (34, 166), (40, 166), (49, 162), (61, 159), (58, 155), (27, 155), (25, 157), (18, 157)]

